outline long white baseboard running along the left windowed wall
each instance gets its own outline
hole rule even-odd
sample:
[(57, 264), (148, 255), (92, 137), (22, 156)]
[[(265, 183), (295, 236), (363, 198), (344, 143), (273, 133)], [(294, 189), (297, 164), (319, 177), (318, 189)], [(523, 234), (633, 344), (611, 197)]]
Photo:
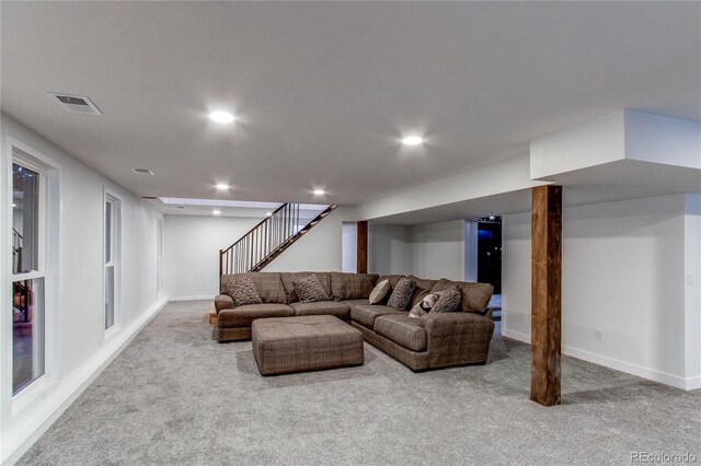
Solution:
[(20, 459), (168, 302), (168, 298), (161, 298), (137, 321), (108, 339), (88, 361), (62, 377), (54, 389), (38, 398), (27, 408), (31, 411), (23, 415), (11, 429), (2, 432), (0, 463), (10, 466)]

